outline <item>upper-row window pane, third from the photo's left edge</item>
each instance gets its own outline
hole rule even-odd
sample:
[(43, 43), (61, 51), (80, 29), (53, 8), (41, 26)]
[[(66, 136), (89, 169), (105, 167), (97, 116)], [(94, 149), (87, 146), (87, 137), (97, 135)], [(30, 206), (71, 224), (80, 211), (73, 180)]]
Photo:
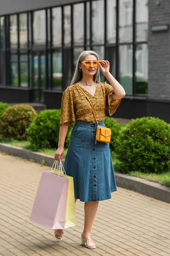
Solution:
[(20, 20), (20, 48), (27, 48), (27, 14), (22, 13), (19, 15)]

